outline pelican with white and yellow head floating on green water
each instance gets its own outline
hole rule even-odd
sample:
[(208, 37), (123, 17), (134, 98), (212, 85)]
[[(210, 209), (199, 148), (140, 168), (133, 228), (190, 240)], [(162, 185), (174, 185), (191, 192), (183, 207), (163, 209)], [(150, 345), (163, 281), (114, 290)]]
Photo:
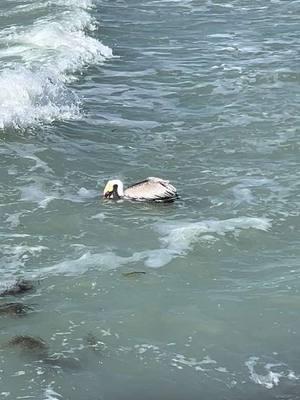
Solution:
[(161, 178), (150, 176), (124, 189), (119, 179), (108, 181), (103, 196), (107, 199), (129, 199), (136, 201), (172, 202), (178, 195), (176, 188)]

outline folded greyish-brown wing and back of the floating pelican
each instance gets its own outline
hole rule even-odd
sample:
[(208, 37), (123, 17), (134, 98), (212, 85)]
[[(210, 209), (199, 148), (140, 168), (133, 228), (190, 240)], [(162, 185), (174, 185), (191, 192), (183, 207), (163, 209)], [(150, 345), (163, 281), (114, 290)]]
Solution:
[(177, 197), (176, 188), (169, 181), (154, 177), (129, 186), (124, 194), (129, 199), (148, 201), (173, 201)]

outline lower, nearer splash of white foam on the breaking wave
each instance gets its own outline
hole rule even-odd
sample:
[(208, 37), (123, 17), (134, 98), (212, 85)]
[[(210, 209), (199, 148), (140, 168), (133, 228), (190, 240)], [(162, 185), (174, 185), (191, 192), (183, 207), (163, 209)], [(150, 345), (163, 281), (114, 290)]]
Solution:
[(0, 129), (79, 118), (79, 99), (45, 71), (23, 67), (0, 74)]

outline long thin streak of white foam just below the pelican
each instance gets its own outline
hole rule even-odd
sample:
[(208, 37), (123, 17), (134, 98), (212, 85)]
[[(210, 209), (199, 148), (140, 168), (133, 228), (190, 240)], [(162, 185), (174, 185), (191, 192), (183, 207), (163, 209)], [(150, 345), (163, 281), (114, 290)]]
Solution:
[[(144, 262), (147, 267), (159, 268), (169, 264), (174, 258), (187, 254), (197, 241), (214, 241), (216, 235), (223, 236), (228, 232), (234, 232), (238, 236), (243, 229), (267, 231), (270, 227), (271, 223), (267, 218), (251, 217), (160, 224), (155, 225), (155, 229), (163, 234), (161, 248), (134, 252), (127, 257), (118, 256), (111, 251), (96, 254), (86, 251), (78, 258), (59, 262), (43, 268), (40, 272), (43, 276), (48, 274), (80, 275), (89, 269), (107, 271), (137, 262)], [(80, 251), (84, 250), (84, 246), (77, 247)]]

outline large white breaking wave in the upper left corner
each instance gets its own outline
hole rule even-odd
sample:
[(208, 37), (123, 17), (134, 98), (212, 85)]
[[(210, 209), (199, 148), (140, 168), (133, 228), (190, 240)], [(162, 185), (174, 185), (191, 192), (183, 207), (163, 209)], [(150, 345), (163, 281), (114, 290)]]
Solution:
[(96, 29), (90, 1), (38, 5), (51, 6), (51, 16), (0, 34), (0, 129), (80, 118), (80, 98), (68, 83), (112, 57), (109, 47), (90, 36)]

